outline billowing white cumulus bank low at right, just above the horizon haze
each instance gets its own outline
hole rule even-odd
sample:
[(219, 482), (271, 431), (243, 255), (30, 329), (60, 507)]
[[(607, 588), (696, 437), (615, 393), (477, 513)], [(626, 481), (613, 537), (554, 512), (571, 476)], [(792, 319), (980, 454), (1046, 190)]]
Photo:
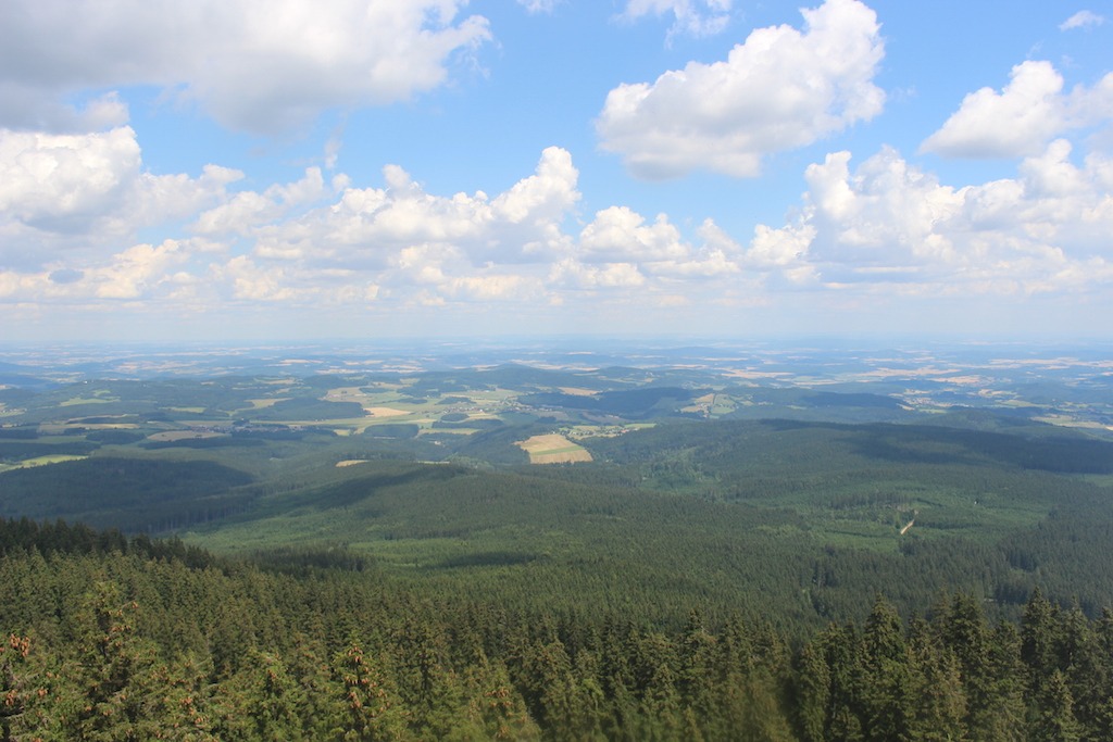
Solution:
[[(795, 251), (827, 286), (903, 284), (906, 291), (1041, 293), (1113, 280), (1113, 208), (1103, 161), (1078, 168), (1052, 142), (1018, 177), (954, 188), (883, 149), (856, 170), (849, 152), (809, 166), (801, 216), (759, 227), (749, 259)], [(799, 263), (799, 260), (798, 260)]]

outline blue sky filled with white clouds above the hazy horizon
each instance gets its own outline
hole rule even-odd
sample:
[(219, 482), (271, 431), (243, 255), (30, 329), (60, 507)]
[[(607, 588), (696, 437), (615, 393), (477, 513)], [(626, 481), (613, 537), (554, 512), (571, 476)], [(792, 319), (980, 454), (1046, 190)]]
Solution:
[(0, 343), (1111, 317), (1110, 0), (0, 3)]

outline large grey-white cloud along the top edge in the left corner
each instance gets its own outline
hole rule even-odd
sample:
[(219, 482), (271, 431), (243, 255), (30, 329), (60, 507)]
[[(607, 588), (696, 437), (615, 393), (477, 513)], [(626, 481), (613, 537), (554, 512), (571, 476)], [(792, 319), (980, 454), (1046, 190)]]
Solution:
[(491, 36), (465, 0), (12, 0), (0, 6), (0, 125), (119, 123), (89, 88), (161, 86), (225, 126), (276, 132), (322, 109), (388, 103), (441, 85)]

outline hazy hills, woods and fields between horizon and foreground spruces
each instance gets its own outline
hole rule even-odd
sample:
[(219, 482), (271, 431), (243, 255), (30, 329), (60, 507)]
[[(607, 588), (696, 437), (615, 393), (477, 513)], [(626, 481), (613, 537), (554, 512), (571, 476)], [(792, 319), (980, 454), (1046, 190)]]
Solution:
[[(10, 352), (0, 514), (177, 534), (217, 552), (343, 546), (439, 580), (513, 554), (505, 576), (528, 580), (526, 564), (604, 563), (591, 544), (613, 545), (620, 522), (632, 527), (614, 512), (643, 497), (650, 514), (695, 508), (693, 522), (644, 515), (646, 534), (621, 537), (692, 542), (695, 561), (672, 566), (725, 607), (737, 591), (708, 582), (721, 574), (700, 543), (712, 534), (775, 536), (776, 551), (816, 563), (825, 548), (864, 548), (897, 570), (918, 548), (1007, 551), (1070, 507), (1105, 513), (1107, 357), (1007, 345)], [(508, 505), (526, 502), (482, 517), (462, 504), (499, 488)], [(961, 586), (1006, 613), (1035, 584), (1094, 611), (1113, 602), (1100, 580), (1045, 576), (1067, 564), (1008, 558)], [(752, 578), (752, 565), (736, 567)], [(861, 617), (843, 593), (904, 590), (809, 580), (792, 574), (778, 592), (814, 625)], [(817, 591), (831, 596), (802, 597)], [(923, 610), (930, 597), (903, 601)]]

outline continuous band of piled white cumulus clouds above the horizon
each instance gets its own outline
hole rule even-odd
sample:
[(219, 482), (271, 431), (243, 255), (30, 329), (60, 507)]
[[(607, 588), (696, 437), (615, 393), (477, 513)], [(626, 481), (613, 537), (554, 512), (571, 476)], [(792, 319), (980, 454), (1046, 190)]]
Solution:
[[(0, 132), (0, 303), (174, 307), (742, 305), (770, 293), (906, 296), (1109, 291), (1113, 160), (1053, 140), (1017, 176), (954, 188), (884, 148), (807, 168), (797, 216), (748, 241), (707, 219), (614, 205), (583, 220), (572, 156), (551, 147), (494, 196), (435, 195), (397, 166), (359, 188), (317, 168), (264, 190), (210, 166), (142, 170), (135, 132)], [(147, 227), (176, 233), (138, 239)]]

